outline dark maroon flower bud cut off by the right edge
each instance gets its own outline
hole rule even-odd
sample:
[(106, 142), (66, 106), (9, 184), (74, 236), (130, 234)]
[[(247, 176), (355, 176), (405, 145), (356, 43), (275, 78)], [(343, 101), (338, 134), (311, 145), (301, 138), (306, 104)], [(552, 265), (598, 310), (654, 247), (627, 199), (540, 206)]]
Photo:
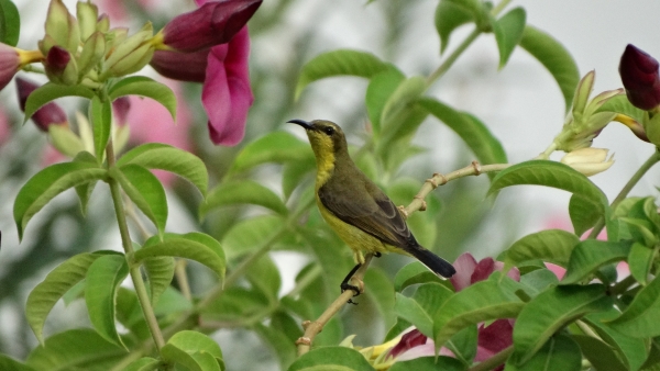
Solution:
[(628, 44), (622, 55), (619, 75), (632, 105), (648, 111), (660, 104), (658, 60), (653, 57)]

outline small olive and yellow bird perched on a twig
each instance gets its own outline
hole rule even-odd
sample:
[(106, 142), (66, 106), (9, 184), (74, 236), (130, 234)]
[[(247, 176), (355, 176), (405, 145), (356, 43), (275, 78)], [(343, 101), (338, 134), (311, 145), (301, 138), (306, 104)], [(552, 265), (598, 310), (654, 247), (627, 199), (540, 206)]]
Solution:
[(365, 252), (413, 256), (443, 278), (457, 272), (449, 261), (419, 245), (398, 207), (355, 166), (339, 125), (327, 120), (295, 119), (287, 123), (305, 128), (317, 162), (317, 206), (326, 223), (353, 250), (356, 266), (343, 280), (342, 292), (350, 289), (360, 294), (349, 280), (364, 263)]

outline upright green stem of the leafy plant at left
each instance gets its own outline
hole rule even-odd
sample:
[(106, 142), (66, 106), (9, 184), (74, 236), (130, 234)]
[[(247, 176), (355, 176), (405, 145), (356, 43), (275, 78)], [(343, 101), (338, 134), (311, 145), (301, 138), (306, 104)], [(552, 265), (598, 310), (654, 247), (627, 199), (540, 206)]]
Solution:
[[(108, 168), (113, 168), (116, 165), (116, 160), (114, 148), (112, 147), (112, 139), (108, 142), (108, 146), (106, 147), (106, 157), (108, 158)], [(114, 204), (114, 213), (117, 214), (117, 224), (119, 226), (119, 233), (121, 235), (121, 244), (127, 254), (127, 258), (130, 260), (130, 256), (133, 254), (133, 243), (129, 233), (129, 225), (127, 223), (123, 200), (121, 198), (121, 189), (117, 180), (113, 178), (108, 179), (108, 184), (110, 186), (110, 193), (112, 195), (112, 202)], [(144, 281), (142, 280), (140, 266), (131, 267), (130, 274), (131, 280), (133, 281), (133, 285), (135, 288), (135, 293), (138, 294), (138, 300), (140, 301), (140, 306), (142, 307), (142, 313), (144, 314), (144, 318), (146, 319), (146, 324), (156, 345), (156, 349), (161, 351), (161, 348), (165, 345), (165, 340), (163, 338), (163, 334), (161, 333), (161, 328), (158, 327), (158, 322), (156, 321), (154, 310), (151, 305), (151, 301), (146, 292), (146, 286), (144, 284)]]

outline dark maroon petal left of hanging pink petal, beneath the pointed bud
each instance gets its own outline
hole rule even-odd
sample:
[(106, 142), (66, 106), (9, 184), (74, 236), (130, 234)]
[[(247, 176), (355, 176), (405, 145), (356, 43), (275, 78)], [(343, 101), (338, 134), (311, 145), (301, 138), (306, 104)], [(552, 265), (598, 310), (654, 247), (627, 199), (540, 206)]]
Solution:
[(180, 81), (204, 82), (209, 49), (193, 53), (156, 50), (148, 63), (158, 74)]

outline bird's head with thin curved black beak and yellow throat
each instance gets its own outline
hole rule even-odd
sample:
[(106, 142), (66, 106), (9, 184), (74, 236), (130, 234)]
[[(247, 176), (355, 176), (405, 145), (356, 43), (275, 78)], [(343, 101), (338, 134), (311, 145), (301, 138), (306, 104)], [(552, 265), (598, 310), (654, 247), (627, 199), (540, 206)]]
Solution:
[(338, 154), (348, 154), (346, 138), (341, 127), (336, 123), (326, 120), (315, 120), (312, 122), (289, 120), (287, 122), (305, 128), (317, 159), (334, 160)]

